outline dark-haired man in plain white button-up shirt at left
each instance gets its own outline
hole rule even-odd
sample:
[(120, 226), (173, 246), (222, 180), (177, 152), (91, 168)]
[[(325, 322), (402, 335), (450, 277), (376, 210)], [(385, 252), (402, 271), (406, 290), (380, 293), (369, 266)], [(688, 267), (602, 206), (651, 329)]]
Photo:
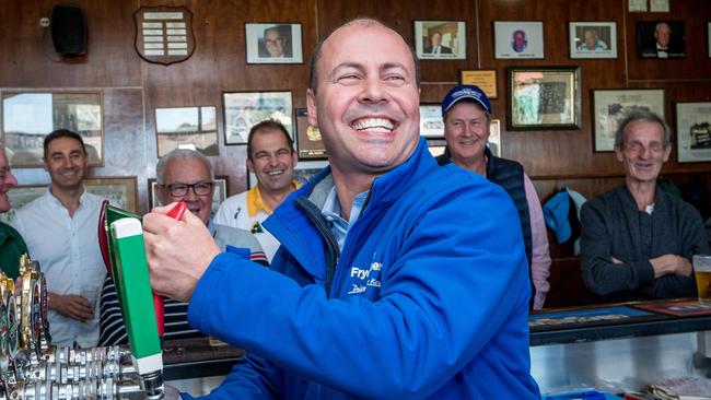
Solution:
[(96, 299), (106, 274), (96, 237), (103, 199), (84, 190), (88, 157), (79, 134), (49, 133), (43, 160), (49, 189), (18, 210), (12, 225), (47, 279), (51, 344), (92, 348), (98, 342)]

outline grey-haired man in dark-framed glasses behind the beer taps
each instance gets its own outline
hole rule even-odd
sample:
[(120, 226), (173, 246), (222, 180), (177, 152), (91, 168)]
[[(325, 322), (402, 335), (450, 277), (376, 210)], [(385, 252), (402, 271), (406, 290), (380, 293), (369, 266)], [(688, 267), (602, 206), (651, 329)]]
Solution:
[[(156, 195), (163, 205), (185, 201), (187, 209), (205, 223), (221, 249), (228, 245), (248, 248), (250, 259), (267, 266), (267, 258), (255, 237), (244, 230), (212, 223), (214, 176), (210, 161), (200, 152), (176, 149), (164, 155), (155, 167)], [(165, 301), (165, 339), (199, 338), (203, 334), (187, 322), (187, 303)], [(101, 345), (126, 344), (126, 328), (118, 306), (116, 287), (107, 275), (101, 304)]]

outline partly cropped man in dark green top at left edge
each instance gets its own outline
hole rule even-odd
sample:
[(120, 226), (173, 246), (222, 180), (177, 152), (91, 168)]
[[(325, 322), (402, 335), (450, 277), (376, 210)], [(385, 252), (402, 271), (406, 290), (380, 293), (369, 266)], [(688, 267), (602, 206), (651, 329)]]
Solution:
[[(10, 210), (8, 191), (18, 186), (12, 175), (4, 148), (0, 146), (0, 213)], [(18, 279), (20, 256), (27, 252), (25, 240), (12, 226), (0, 222), (0, 269), (12, 279)]]

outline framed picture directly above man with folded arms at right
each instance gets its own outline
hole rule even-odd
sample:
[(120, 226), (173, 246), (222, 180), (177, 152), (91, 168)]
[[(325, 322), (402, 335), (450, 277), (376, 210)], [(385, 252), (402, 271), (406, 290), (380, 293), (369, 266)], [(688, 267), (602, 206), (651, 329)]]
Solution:
[(664, 90), (621, 89), (593, 90), (593, 116), (595, 121), (595, 151), (615, 151), (615, 131), (625, 116), (634, 109), (645, 109), (664, 119)]

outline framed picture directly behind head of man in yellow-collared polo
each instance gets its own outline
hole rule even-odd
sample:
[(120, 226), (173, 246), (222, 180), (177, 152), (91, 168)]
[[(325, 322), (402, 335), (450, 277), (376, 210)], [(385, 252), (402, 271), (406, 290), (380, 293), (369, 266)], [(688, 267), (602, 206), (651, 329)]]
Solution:
[(249, 129), (267, 119), (277, 120), (293, 138), (291, 91), (222, 93), (224, 144), (247, 144)]

